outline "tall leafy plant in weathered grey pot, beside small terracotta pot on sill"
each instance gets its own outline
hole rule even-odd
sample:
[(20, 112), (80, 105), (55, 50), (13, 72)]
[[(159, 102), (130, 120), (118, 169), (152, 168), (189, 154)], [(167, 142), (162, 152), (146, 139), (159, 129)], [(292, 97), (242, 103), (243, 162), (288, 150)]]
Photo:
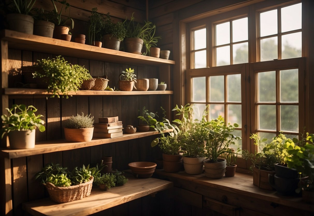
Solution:
[(211, 120), (208, 136), (206, 138), (206, 151), (208, 159), (204, 161), (205, 176), (220, 179), (225, 174), (226, 160), (219, 158), (220, 155), (228, 150), (229, 144), (234, 144), (234, 140), (241, 139), (232, 134), (238, 124), (225, 124), (223, 117)]

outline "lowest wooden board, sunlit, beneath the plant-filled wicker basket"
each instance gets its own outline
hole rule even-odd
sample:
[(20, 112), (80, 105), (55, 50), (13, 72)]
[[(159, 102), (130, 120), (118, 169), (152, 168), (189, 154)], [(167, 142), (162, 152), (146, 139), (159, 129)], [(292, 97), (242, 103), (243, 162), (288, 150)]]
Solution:
[(136, 179), (131, 175), (126, 175), (126, 177), (129, 179), (127, 184), (107, 191), (93, 186), (90, 196), (81, 200), (57, 203), (45, 198), (23, 203), (23, 209), (32, 215), (83, 216), (173, 187), (172, 182), (161, 179)]

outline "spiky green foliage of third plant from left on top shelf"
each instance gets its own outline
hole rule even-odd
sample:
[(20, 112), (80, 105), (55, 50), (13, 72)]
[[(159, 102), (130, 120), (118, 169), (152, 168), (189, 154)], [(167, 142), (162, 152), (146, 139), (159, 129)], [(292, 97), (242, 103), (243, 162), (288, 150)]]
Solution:
[[(74, 20), (72, 18), (70, 18), (70, 7), (71, 7), (71, 5), (67, 2), (67, 0), (62, 0), (62, 1), (51, 0), (51, 2), (53, 4), (53, 13), (54, 13), (54, 18), (51, 20), (51, 22), (53, 22), (57, 26), (67, 26), (70, 29), (73, 29), (74, 28)], [(62, 5), (59, 12), (58, 12), (57, 5), (55, 2), (60, 3)], [(67, 9), (69, 9), (68, 17), (66, 19), (63, 19), (61, 16), (63, 9), (64, 9), (64, 12), (67, 12)], [(71, 22), (71, 24), (67, 25), (68, 22)]]

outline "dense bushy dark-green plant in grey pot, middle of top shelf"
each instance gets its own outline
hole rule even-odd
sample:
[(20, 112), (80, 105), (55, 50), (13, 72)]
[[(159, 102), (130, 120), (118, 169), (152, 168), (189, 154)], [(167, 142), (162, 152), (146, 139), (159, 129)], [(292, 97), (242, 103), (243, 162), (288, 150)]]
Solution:
[(104, 48), (119, 50), (120, 42), (123, 41), (127, 34), (124, 22), (113, 23), (109, 13), (107, 14), (103, 28), (103, 44)]

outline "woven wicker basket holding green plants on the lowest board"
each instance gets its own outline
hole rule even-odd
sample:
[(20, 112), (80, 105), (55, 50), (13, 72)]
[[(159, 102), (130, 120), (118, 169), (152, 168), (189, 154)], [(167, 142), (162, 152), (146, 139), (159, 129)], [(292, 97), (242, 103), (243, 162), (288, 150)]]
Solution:
[(89, 196), (92, 190), (93, 180), (94, 177), (91, 176), (88, 182), (79, 185), (73, 185), (69, 187), (57, 187), (50, 182), (47, 182), (45, 186), (48, 190), (51, 200), (59, 203), (64, 203), (74, 200), (80, 200), (85, 196)]

